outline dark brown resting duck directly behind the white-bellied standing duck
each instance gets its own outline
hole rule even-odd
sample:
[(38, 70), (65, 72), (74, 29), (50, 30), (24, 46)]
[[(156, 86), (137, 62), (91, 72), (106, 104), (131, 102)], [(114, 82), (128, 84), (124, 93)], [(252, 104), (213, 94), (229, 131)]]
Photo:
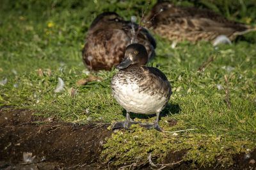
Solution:
[[(132, 34), (132, 31), (136, 32), (136, 35)], [(88, 30), (83, 49), (84, 65), (95, 71), (111, 70), (122, 61), (125, 48), (132, 41), (146, 47), (148, 59), (154, 56), (156, 41), (147, 29), (123, 20), (115, 12), (101, 13), (93, 20)]]

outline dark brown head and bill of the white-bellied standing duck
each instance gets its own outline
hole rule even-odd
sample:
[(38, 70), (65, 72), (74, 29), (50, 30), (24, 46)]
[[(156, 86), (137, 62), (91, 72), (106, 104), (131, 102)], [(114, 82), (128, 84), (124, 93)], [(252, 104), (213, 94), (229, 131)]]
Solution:
[(119, 70), (127, 68), (129, 65), (146, 65), (148, 53), (140, 43), (132, 43), (126, 47), (125, 58), (116, 68)]

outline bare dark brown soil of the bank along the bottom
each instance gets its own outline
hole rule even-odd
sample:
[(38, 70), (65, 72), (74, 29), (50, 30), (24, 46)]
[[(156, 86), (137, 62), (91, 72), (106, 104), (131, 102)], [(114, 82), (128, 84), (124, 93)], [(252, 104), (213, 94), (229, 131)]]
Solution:
[[(175, 121), (170, 122), (173, 124)], [(111, 135), (108, 126), (45, 120), (27, 109), (0, 108), (0, 169), (108, 169), (107, 164), (100, 162), (102, 144)], [(35, 155), (32, 163), (24, 162), (26, 152)], [(170, 166), (182, 160), (184, 154), (186, 150), (170, 151), (163, 162), (169, 166), (164, 169), (191, 169), (191, 162)], [(255, 160), (256, 150), (234, 155), (235, 164), (229, 169), (256, 169)], [(195, 168), (223, 169), (218, 164)], [(141, 169), (150, 169), (150, 165)]]

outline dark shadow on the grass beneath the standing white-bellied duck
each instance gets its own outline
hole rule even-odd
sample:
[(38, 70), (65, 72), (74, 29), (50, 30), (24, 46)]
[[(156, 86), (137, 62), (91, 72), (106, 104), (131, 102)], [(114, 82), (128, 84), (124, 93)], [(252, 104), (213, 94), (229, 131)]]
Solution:
[[(181, 111), (179, 104), (167, 104), (166, 107), (161, 111), (160, 116), (165, 117), (168, 114), (179, 114)], [(123, 109), (122, 111), (123, 115), (126, 116), (126, 111)], [(134, 118), (140, 118), (140, 119), (148, 119), (156, 116), (156, 114), (138, 114), (138, 113), (130, 113), (130, 116), (132, 119)]]

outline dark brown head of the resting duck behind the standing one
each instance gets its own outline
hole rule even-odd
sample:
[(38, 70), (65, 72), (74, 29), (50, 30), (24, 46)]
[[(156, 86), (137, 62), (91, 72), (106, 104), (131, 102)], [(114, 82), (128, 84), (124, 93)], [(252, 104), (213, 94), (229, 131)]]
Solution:
[(93, 20), (90, 29), (99, 28), (122, 28), (124, 20), (115, 12), (104, 12), (101, 13)]

